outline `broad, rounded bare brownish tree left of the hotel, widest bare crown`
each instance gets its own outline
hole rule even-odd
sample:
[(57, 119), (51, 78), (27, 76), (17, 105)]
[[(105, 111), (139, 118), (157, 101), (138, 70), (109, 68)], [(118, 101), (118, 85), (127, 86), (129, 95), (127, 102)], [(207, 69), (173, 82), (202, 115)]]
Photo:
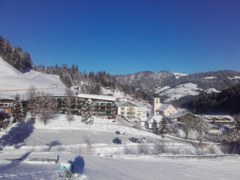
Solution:
[(44, 125), (47, 124), (50, 116), (57, 112), (57, 100), (50, 93), (41, 93), (36, 99), (38, 114)]

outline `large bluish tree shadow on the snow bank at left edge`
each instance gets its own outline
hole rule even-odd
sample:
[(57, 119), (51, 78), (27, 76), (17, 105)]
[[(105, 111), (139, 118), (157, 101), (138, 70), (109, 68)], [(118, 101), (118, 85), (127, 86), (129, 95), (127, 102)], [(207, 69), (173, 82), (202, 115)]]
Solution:
[(35, 121), (22, 121), (11, 127), (11, 129), (0, 138), (0, 151), (4, 149), (5, 146), (14, 146), (15, 149), (19, 149), (21, 146), (25, 145), (25, 140), (30, 137), (34, 130)]

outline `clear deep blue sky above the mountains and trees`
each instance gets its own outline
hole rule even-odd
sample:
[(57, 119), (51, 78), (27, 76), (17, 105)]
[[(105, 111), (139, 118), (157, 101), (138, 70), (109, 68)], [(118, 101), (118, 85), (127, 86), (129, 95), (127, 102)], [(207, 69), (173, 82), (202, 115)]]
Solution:
[(0, 35), (35, 65), (240, 71), (240, 0), (0, 0)]

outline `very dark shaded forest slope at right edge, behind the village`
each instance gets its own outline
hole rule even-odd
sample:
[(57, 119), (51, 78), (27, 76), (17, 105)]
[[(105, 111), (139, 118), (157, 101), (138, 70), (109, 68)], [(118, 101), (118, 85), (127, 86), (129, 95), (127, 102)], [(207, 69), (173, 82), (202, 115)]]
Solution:
[(172, 102), (176, 107), (187, 108), (193, 113), (240, 113), (240, 84), (221, 93), (201, 93), (198, 96), (183, 97)]

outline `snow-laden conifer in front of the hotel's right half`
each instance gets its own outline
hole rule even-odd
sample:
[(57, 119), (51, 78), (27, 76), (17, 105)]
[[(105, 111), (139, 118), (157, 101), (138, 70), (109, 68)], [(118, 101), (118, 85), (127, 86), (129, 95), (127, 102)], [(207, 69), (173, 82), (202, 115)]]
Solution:
[(94, 121), (94, 118), (92, 117), (93, 104), (94, 102), (91, 99), (88, 99), (83, 106), (82, 122), (90, 125), (92, 125)]

